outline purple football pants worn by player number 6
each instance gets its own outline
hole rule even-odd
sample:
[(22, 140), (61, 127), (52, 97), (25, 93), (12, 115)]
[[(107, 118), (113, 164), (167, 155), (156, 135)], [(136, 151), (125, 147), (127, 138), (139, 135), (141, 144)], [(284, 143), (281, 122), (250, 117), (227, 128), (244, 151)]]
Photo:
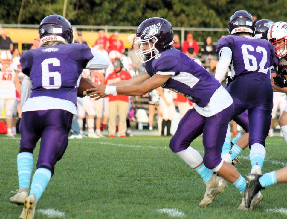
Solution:
[(54, 174), (54, 166), (68, 146), (68, 133), (73, 114), (62, 109), (28, 111), (20, 122), (20, 151), (33, 153), (41, 138), (37, 168), (47, 168)]

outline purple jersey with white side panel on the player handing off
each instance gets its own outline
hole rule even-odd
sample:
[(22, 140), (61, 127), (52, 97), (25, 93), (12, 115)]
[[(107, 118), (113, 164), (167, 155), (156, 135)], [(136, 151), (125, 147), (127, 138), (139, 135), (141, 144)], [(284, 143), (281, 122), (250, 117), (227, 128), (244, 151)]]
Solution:
[(172, 74), (162, 87), (183, 94), (199, 107), (209, 102), (220, 83), (183, 52), (167, 49), (146, 63), (146, 71), (154, 74)]

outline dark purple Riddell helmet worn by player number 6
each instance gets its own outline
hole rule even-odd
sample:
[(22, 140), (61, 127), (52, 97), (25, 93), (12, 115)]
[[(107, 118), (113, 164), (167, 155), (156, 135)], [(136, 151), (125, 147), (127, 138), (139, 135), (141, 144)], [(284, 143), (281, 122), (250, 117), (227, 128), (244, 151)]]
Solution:
[(74, 42), (74, 32), (70, 22), (61, 15), (45, 17), (39, 26), (40, 46), (48, 41)]

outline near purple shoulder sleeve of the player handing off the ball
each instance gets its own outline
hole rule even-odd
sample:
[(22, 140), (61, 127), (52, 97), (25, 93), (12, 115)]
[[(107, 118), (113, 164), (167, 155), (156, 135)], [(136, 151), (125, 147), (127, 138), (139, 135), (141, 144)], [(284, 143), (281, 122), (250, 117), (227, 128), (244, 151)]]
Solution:
[(155, 60), (155, 65), (153, 67), (154, 73), (156, 72), (178, 72), (177, 59), (174, 56), (164, 56)]

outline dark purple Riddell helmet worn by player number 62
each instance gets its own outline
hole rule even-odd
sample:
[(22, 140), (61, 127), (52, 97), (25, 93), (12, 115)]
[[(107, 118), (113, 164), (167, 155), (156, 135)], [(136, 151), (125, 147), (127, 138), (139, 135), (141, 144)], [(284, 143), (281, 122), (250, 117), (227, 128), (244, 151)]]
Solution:
[(255, 23), (247, 11), (236, 11), (229, 19), (228, 32), (230, 35), (240, 32), (254, 33)]

